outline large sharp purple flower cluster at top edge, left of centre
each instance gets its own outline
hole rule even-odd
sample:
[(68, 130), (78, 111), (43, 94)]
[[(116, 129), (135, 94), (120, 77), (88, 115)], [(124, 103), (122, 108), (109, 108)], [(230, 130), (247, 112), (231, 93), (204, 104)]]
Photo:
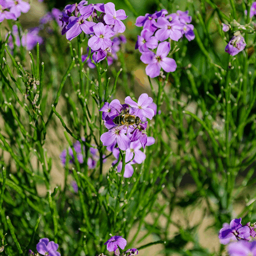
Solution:
[(96, 53), (96, 61), (99, 62), (113, 51), (114, 41), (111, 41), (116, 33), (125, 31), (125, 25), (121, 20), (127, 16), (124, 10), (115, 9), (113, 3), (97, 3), (87, 5), (87, 1), (67, 5), (62, 12), (62, 35), (66, 34), (68, 40), (72, 40), (84, 32), (90, 35), (88, 46), (92, 53)]

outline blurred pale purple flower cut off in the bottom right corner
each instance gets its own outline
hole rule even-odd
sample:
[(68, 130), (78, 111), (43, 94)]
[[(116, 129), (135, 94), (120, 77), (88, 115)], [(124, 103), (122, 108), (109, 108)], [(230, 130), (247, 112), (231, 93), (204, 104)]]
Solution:
[(237, 241), (228, 246), (230, 256), (256, 256), (256, 241)]

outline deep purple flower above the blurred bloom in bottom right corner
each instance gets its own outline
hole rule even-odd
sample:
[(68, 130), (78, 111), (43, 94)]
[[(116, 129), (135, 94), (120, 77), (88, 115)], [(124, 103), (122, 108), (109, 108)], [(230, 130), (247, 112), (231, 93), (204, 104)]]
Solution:
[[(230, 222), (230, 227), (225, 226), (219, 232), (219, 239), (221, 244), (226, 243), (227, 239), (248, 239), (250, 237), (250, 228), (248, 226), (242, 226), (241, 218), (233, 219)], [(225, 239), (225, 241), (224, 241)]]

